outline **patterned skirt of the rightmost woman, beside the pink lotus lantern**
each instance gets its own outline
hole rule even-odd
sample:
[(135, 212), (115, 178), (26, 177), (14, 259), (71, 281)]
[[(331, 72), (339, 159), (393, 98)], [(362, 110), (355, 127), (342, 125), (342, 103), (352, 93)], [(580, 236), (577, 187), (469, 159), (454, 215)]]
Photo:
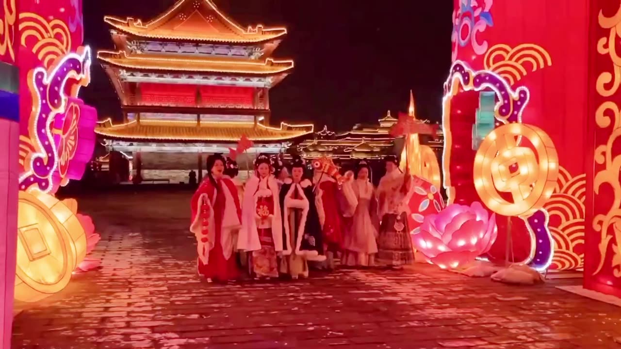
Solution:
[(379, 227), (378, 260), (392, 266), (414, 264), (412, 238), (405, 212), (385, 214)]

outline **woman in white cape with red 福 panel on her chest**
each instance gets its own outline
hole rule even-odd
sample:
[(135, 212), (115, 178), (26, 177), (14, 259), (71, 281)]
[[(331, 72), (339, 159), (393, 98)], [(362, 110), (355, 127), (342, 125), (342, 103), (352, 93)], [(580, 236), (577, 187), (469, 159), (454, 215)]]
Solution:
[(283, 241), (283, 222), (278, 183), (271, 175), (270, 157), (260, 154), (255, 160), (255, 176), (246, 183), (242, 204), (242, 229), (238, 250), (249, 255), (250, 274), (255, 278), (278, 277), (279, 253), (289, 255), (289, 239)]

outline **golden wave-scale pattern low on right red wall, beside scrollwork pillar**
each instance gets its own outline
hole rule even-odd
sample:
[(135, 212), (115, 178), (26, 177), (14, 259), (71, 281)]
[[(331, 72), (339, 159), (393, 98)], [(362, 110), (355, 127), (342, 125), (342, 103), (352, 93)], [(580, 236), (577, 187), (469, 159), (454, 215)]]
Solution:
[(554, 193), (543, 208), (554, 241), (551, 269), (576, 270), (584, 265), (586, 174), (572, 177), (562, 166)]

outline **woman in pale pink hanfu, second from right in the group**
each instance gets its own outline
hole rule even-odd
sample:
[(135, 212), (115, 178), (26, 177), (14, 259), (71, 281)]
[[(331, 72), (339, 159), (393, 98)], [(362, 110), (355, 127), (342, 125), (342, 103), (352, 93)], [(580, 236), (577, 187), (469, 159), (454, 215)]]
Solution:
[(345, 196), (354, 197), (355, 200), (348, 202), (349, 209), (346, 212), (346, 215), (351, 215), (351, 220), (343, 234), (343, 265), (375, 265), (375, 255), (378, 253), (378, 201), (369, 174), (371, 167), (365, 160), (358, 163), (355, 175), (351, 171), (345, 174), (348, 180), (343, 183), (343, 192), (351, 191), (351, 195)]

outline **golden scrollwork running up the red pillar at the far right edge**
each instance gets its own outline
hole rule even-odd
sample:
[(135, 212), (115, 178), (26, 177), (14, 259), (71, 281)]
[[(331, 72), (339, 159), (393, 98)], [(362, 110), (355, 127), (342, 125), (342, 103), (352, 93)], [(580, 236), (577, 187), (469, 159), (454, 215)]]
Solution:
[[(606, 17), (600, 11), (597, 18), (599, 27), (608, 31), (607, 35), (597, 41), (597, 52), (601, 55), (608, 55), (611, 63), (610, 70), (602, 72), (597, 77), (596, 91), (602, 97), (618, 96), (617, 93), (619, 93), (619, 85), (621, 84), (621, 57), (617, 53), (616, 46), (617, 42), (621, 40), (621, 2), (619, 5), (619, 9), (612, 17)], [(604, 101), (597, 107), (595, 120), (598, 129), (608, 129), (609, 133), (605, 143), (596, 143), (594, 154), (596, 173), (593, 189), (596, 195), (604, 191), (612, 192), (613, 200), (608, 212), (596, 214), (592, 222), (593, 229), (601, 234), (598, 246), (599, 264), (593, 275), (602, 271), (606, 259), (606, 251), (614, 237), (612, 270), (614, 276), (619, 278), (621, 277), (621, 253), (619, 252), (619, 242), (621, 241), (621, 183), (619, 183), (621, 155), (614, 150), (613, 146), (621, 136), (621, 113), (619, 104), (615, 102), (615, 99)], [(596, 137), (596, 142), (597, 139)], [(603, 168), (598, 171), (597, 168), (601, 168), (601, 166)], [(610, 233), (610, 230), (612, 230), (612, 233)]]

